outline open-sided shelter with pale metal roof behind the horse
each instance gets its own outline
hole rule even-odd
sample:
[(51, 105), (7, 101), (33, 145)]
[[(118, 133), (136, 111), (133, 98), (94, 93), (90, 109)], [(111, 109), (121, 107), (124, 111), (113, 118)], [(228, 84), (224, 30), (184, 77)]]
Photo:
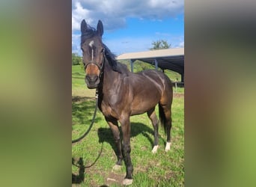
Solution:
[(117, 57), (117, 60), (129, 59), (131, 70), (133, 62), (136, 60), (144, 61), (160, 67), (162, 70), (172, 70), (180, 73), (181, 82), (184, 82), (184, 48), (158, 49), (147, 52), (124, 53)]

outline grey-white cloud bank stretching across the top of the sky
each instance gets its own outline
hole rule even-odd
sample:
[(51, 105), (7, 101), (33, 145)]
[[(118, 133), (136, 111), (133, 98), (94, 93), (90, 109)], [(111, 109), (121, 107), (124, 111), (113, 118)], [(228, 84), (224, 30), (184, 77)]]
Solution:
[(82, 19), (96, 25), (98, 19), (104, 22), (106, 30), (125, 26), (127, 17), (139, 19), (163, 19), (183, 13), (181, 0), (73, 0), (72, 31), (80, 29)]

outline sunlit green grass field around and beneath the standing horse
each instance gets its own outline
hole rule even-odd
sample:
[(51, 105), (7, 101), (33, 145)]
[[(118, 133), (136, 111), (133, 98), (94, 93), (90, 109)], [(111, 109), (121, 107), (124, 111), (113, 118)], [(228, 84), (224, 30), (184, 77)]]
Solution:
[[(72, 139), (79, 138), (91, 123), (95, 90), (85, 86), (80, 66), (72, 67)], [(165, 153), (166, 136), (159, 128), (159, 149), (152, 154), (153, 126), (147, 114), (130, 118), (133, 183), (131, 186), (184, 186), (184, 88), (174, 93), (171, 150)], [(156, 107), (158, 110), (158, 107)], [(156, 111), (158, 114), (158, 111)], [(117, 161), (112, 132), (97, 111), (91, 132), (72, 145), (72, 186), (121, 186), (126, 170), (112, 171)], [(79, 167), (78, 167), (79, 166)]]

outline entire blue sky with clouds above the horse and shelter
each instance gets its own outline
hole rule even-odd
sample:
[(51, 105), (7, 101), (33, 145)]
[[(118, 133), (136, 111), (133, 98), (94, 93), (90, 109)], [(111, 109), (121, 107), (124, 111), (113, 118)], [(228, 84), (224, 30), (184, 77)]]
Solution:
[(173, 48), (184, 47), (183, 1), (75, 0), (72, 3), (72, 50), (79, 55), (82, 19), (94, 28), (102, 20), (103, 43), (115, 55), (147, 51), (156, 40), (166, 40)]

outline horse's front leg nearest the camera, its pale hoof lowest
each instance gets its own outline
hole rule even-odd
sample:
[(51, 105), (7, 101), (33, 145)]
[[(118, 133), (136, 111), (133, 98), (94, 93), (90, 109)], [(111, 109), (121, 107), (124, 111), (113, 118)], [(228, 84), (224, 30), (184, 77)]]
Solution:
[(132, 172), (133, 172), (133, 167), (132, 167), (132, 160), (130, 157), (131, 153), (131, 147), (130, 147), (130, 124), (129, 124), (129, 116), (124, 117), (120, 120), (121, 123), (121, 128), (123, 132), (123, 139), (124, 139), (124, 154), (125, 154), (125, 164), (127, 167), (127, 175), (123, 181), (124, 185), (130, 185), (132, 184)]

